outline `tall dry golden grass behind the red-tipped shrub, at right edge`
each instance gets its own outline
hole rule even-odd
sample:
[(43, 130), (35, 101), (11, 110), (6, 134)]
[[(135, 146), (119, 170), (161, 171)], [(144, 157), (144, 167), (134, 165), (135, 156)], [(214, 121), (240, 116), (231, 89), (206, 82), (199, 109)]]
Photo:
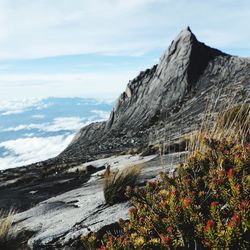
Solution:
[[(239, 90), (240, 91), (240, 90)], [(250, 136), (249, 95), (240, 104), (236, 101), (240, 92), (224, 93), (224, 101), (219, 101), (221, 93), (213, 94), (206, 105), (199, 130), (188, 135), (188, 151), (192, 155), (197, 150), (204, 151), (202, 138), (232, 140), (244, 144)], [(226, 98), (225, 98), (226, 96)]]

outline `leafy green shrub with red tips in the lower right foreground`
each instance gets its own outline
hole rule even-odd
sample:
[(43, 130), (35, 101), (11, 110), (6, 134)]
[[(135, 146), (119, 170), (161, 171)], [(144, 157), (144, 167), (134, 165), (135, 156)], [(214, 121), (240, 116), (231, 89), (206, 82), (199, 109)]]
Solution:
[(129, 188), (130, 220), (123, 233), (95, 233), (84, 238), (87, 249), (249, 249), (250, 145), (203, 139), (177, 168), (176, 176)]

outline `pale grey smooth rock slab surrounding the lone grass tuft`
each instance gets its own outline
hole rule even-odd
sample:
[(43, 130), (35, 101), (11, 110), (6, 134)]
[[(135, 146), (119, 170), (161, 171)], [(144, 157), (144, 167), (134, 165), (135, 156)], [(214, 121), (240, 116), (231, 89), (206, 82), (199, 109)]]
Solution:
[[(96, 171), (82, 185), (73, 186), (72, 190), (63, 190), (60, 194), (52, 195), (35, 206), (16, 214), (15, 225), (17, 232), (28, 230), (34, 232), (28, 240), (31, 249), (83, 249), (79, 238), (89, 231), (98, 231), (110, 227), (120, 218), (128, 218), (129, 202), (107, 206), (103, 194), (102, 166), (108, 164), (111, 170), (121, 170), (127, 166), (142, 164), (143, 169), (139, 182), (155, 178), (160, 171), (169, 171), (185, 158), (185, 153), (174, 153), (159, 158), (156, 155), (142, 157), (139, 155), (113, 156), (77, 166), (78, 169), (93, 166)], [(163, 163), (164, 162), (164, 166)], [(74, 173), (76, 167), (68, 169)], [(75, 179), (77, 182), (77, 179)], [(63, 182), (67, 185), (68, 180)], [(72, 184), (72, 182), (70, 183)], [(41, 189), (32, 183), (33, 192), (26, 185), (26, 199), (39, 197)], [(55, 186), (51, 189), (56, 188)], [(11, 190), (13, 191), (13, 190)], [(43, 191), (43, 190), (42, 190)], [(0, 190), (1, 194), (1, 190)], [(12, 198), (12, 192), (9, 195)], [(109, 229), (110, 229), (109, 228)], [(78, 244), (80, 244), (78, 246)]]

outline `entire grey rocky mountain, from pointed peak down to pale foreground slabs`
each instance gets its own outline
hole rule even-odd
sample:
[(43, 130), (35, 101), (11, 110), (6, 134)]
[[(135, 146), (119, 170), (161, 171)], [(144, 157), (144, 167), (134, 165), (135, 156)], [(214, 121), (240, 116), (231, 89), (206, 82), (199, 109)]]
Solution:
[[(82, 248), (82, 235), (115, 229), (119, 218), (128, 218), (129, 202), (105, 203), (105, 168), (141, 165), (138, 185), (171, 173), (187, 156), (185, 134), (207, 113), (249, 102), (249, 80), (249, 58), (210, 48), (184, 29), (158, 65), (128, 83), (107, 121), (83, 127), (52, 159), (0, 171), (0, 210), (19, 211), (14, 223), (19, 232), (32, 232), (31, 249)], [(167, 154), (145, 156), (162, 143)]]

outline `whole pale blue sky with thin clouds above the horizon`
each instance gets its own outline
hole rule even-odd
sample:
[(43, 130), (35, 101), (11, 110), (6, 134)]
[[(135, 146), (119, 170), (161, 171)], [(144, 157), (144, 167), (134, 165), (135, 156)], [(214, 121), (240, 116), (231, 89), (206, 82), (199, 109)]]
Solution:
[(181, 29), (250, 56), (249, 0), (0, 0), (0, 100), (116, 98)]

